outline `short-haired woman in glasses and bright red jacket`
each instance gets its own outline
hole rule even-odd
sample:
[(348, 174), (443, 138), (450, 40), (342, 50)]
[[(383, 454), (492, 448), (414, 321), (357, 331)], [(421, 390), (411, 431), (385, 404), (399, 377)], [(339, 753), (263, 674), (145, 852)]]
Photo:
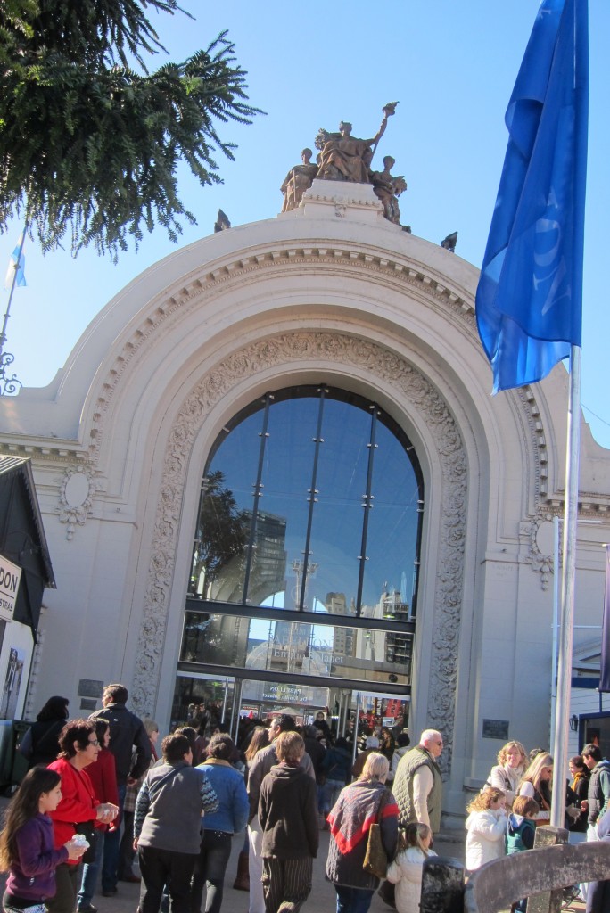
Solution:
[[(85, 771), (100, 753), (93, 723), (87, 719), (70, 719), (59, 735), (59, 748), (58, 760), (48, 765), (61, 777), (62, 799), (57, 809), (50, 813), (56, 849), (77, 832), (75, 825), (89, 825), (89, 834), (92, 834), (94, 822), (110, 824), (119, 813), (115, 804), (100, 803)], [(58, 866), (56, 895), (47, 901), (49, 913), (74, 913), (78, 874), (76, 860), (68, 859)]]

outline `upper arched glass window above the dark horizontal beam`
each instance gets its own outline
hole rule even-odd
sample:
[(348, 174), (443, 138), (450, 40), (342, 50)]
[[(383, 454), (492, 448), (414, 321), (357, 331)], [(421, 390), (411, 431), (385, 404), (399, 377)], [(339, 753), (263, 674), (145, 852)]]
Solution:
[(189, 596), (412, 619), (423, 498), (414, 448), (376, 404), (325, 385), (267, 394), (208, 458)]

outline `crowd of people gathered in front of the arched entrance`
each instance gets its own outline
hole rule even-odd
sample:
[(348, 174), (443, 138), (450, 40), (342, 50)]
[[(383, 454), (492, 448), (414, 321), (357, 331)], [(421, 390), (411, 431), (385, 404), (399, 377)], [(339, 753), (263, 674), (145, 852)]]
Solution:
[[(127, 698), (110, 685), (102, 709), (72, 720), (68, 701), (50, 698), (27, 733), (31, 769), (0, 835), (6, 913), (97, 913), (98, 879), (104, 897), (121, 879), (140, 882), (138, 913), (219, 913), (233, 836), (244, 830), (233, 887), (249, 892), (248, 913), (298, 913), (321, 830), (330, 832), (324, 870), (337, 913), (366, 913), (382, 882), (398, 913), (417, 913), (441, 824), (439, 731), (411, 747), (404, 719), (363, 720), (352, 729), (356, 753), (323, 713), (304, 727), (279, 714), (268, 726), (243, 719), (236, 744), (218, 708), (192, 705), (189, 725), (163, 739), (158, 758), (159, 727), (132, 714)], [(610, 764), (589, 744), (570, 771), (571, 840), (610, 839)], [(504, 745), (468, 804), (467, 874), (531, 849), (552, 794), (551, 755)], [(589, 886), (586, 900), (587, 913), (607, 913), (608, 884)]]

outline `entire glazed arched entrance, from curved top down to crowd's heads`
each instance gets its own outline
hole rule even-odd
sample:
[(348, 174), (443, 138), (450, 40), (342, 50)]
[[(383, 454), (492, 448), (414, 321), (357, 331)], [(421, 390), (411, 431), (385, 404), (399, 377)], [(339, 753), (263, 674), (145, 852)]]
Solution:
[[(397, 714), (411, 689), (423, 480), (378, 404), (328, 384), (265, 394), (222, 429), (197, 514), (174, 721), (228, 724), (352, 692)], [(224, 687), (223, 687), (223, 684)]]

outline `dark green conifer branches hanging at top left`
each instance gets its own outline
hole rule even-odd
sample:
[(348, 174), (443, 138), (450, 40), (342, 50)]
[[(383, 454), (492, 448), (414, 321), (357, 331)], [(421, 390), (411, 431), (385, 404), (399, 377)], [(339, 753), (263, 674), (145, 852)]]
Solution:
[(26, 216), (44, 250), (92, 244), (116, 258), (160, 224), (175, 242), (188, 163), (220, 182), (216, 151), (234, 158), (220, 121), (251, 123), (246, 72), (223, 32), (184, 63), (153, 72), (164, 50), (147, 7), (177, 0), (3, 0), (0, 5), (0, 232)]

